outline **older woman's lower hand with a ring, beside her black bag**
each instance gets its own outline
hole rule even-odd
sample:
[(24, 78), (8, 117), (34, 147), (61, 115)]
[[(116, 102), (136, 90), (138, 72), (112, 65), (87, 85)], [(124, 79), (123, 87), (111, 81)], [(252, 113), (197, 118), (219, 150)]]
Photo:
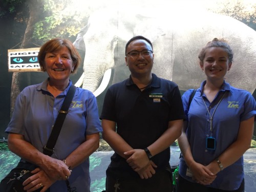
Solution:
[(46, 191), (56, 180), (51, 179), (47, 176), (44, 170), (36, 168), (32, 170), (32, 175), (23, 182), (24, 190), (31, 192), (41, 188), (40, 192)]

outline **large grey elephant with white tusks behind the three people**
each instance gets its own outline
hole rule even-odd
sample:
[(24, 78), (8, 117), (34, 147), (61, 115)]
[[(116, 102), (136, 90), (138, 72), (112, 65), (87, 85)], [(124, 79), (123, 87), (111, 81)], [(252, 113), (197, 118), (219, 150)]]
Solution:
[(109, 83), (129, 77), (124, 49), (135, 35), (153, 43), (152, 72), (176, 82), (183, 91), (198, 88), (205, 79), (199, 67), (201, 49), (215, 37), (224, 38), (234, 52), (226, 81), (250, 93), (256, 88), (256, 31), (239, 20), (209, 11), (154, 14), (124, 9), (96, 11), (77, 35), (74, 45), (85, 51), (82, 88), (97, 96)]

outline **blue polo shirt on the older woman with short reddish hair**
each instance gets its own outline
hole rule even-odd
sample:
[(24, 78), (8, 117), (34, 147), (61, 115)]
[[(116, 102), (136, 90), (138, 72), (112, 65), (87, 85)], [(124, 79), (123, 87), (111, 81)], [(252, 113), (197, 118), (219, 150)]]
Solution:
[[(26, 141), (42, 152), (63, 100), (72, 84), (56, 98), (47, 90), (48, 79), (25, 88), (17, 97), (12, 119), (6, 133), (24, 135)], [(88, 90), (76, 88), (68, 114), (55, 145), (53, 158), (63, 160), (81, 143), (86, 135), (101, 132), (95, 96)], [(23, 160), (22, 160), (23, 161)], [(70, 176), (71, 188), (90, 191), (89, 158), (75, 167)], [(51, 191), (67, 191), (65, 181), (56, 181)]]

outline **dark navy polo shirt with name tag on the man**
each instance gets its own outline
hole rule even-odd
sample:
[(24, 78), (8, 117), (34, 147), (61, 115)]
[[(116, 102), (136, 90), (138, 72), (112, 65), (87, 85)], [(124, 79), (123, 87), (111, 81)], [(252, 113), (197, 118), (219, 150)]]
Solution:
[[(115, 121), (117, 133), (133, 148), (143, 149), (154, 143), (168, 128), (168, 122), (184, 119), (177, 84), (152, 74), (150, 86), (140, 91), (131, 76), (112, 85), (106, 92), (100, 118)], [(158, 168), (169, 165), (169, 147), (153, 157)], [(118, 154), (111, 158), (110, 167), (134, 170)]]

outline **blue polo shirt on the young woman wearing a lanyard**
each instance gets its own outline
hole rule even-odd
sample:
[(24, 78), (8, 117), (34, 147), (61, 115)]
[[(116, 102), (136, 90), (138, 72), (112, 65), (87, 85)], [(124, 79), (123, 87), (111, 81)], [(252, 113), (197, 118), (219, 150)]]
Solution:
[[(202, 91), (205, 83), (206, 81), (202, 82), (201, 87), (196, 91), (190, 103), (189, 111), (188, 100), (193, 90), (186, 91), (182, 95), (182, 101), (188, 120), (186, 135), (193, 158), (198, 163), (208, 165), (237, 139), (240, 122), (256, 115), (256, 103), (248, 91), (233, 88), (225, 81), (216, 98), (210, 103)], [(216, 109), (224, 93), (225, 95)], [(212, 118), (212, 132), (210, 132), (210, 116), (203, 99), (211, 116), (216, 110)], [(248, 129), (251, 129), (251, 127), (248, 127)], [(216, 150), (206, 148), (206, 138), (210, 136), (216, 138)], [(215, 181), (208, 186), (222, 190), (238, 189), (244, 178), (243, 165), (242, 156), (232, 165), (219, 172)], [(190, 182), (195, 182), (191, 177), (186, 176), (186, 170), (186, 163), (183, 156), (181, 156), (179, 174)]]

